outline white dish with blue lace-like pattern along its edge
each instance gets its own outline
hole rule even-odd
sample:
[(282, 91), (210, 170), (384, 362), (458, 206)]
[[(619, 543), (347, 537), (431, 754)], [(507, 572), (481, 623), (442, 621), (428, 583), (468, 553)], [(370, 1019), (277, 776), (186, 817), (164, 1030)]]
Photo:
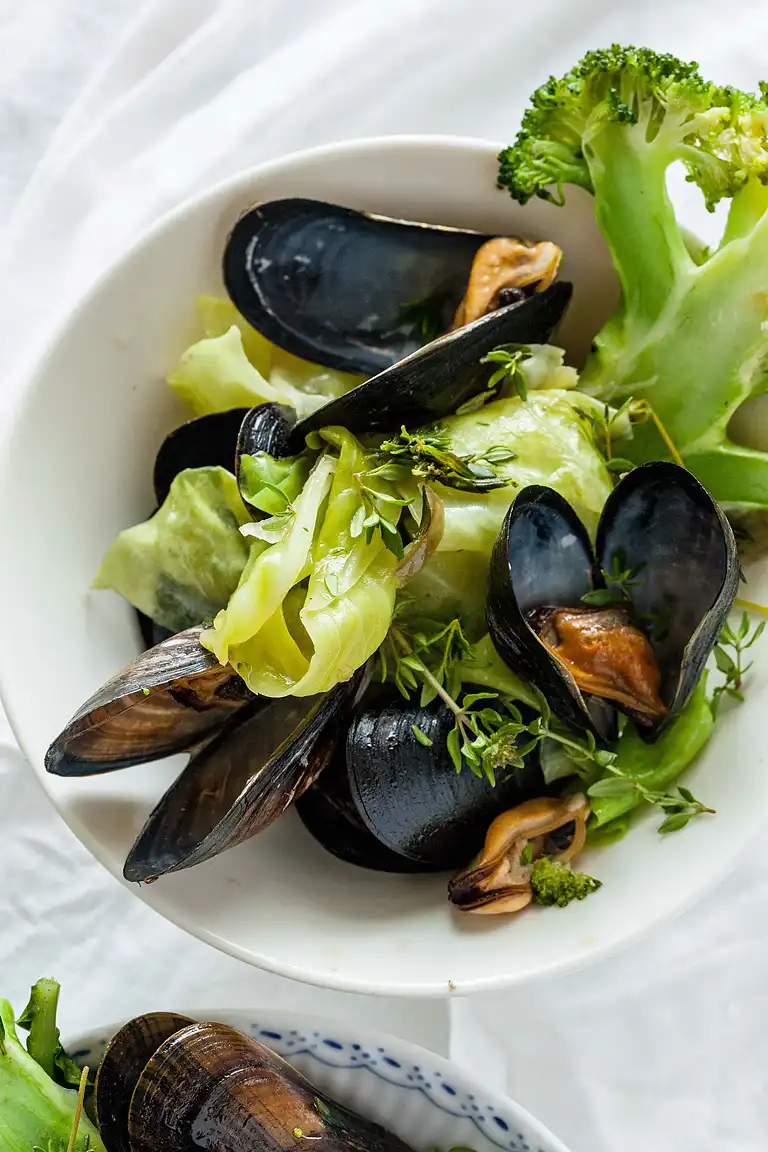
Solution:
[[(552, 1132), (508, 1097), (489, 1092), (457, 1064), (385, 1032), (341, 1025), (319, 1016), (245, 1011), (184, 1011), (253, 1036), (280, 1053), (315, 1087), (362, 1116), (378, 1121), (415, 1152), (568, 1152)], [(120, 1028), (105, 1028), (68, 1045), (81, 1066), (96, 1068)]]

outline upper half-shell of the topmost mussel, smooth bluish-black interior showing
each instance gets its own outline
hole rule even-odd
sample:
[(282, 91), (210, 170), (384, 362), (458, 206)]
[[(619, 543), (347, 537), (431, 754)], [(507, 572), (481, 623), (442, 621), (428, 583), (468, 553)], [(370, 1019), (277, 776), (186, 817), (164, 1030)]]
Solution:
[(491, 237), (320, 200), (271, 200), (235, 225), (223, 276), (268, 340), (337, 371), (375, 376), (444, 332)]

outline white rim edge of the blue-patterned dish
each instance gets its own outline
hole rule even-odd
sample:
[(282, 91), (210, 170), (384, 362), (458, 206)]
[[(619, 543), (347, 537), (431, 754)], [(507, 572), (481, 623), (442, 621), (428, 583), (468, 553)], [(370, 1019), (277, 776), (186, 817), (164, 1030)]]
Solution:
[[(153, 1011), (155, 1009), (147, 1009), (147, 1011)], [(494, 1109), (494, 1114), (504, 1113), (511, 1114), (516, 1121), (522, 1121), (526, 1124), (537, 1139), (541, 1140), (542, 1145), (547, 1145), (548, 1152), (569, 1152), (569, 1149), (563, 1144), (563, 1142), (552, 1132), (542, 1121), (538, 1120), (527, 1108), (518, 1104), (511, 1096), (505, 1092), (500, 1092), (496, 1089), (486, 1087), (481, 1079), (477, 1078), (472, 1073), (467, 1071), (459, 1063), (450, 1060), (448, 1056), (443, 1056), (438, 1052), (433, 1052), (431, 1048), (425, 1048), (420, 1044), (416, 1044), (413, 1040), (405, 1040), (402, 1037), (395, 1036), (393, 1032), (380, 1032), (375, 1028), (370, 1028), (368, 1025), (362, 1025), (358, 1028), (356, 1024), (351, 1024), (347, 1020), (336, 1020), (330, 1016), (315, 1016), (313, 1013), (302, 1013), (291, 1011), (290, 1009), (274, 1009), (274, 1008), (178, 1008), (173, 1009), (178, 1011), (180, 1015), (189, 1016), (195, 1021), (213, 1021), (218, 1022), (222, 1016), (226, 1016), (227, 1021), (221, 1021), (222, 1023), (231, 1023), (231, 1021), (238, 1021), (238, 1023), (233, 1026), (239, 1029), (241, 1031), (250, 1031), (251, 1024), (253, 1022), (259, 1023), (261, 1031), (282, 1031), (290, 1032), (292, 1030), (298, 1032), (319, 1032), (320, 1039), (318, 1043), (322, 1043), (324, 1036), (332, 1036), (334, 1039), (339, 1040), (344, 1046), (352, 1046), (353, 1044), (359, 1044), (363, 1046), (364, 1051), (375, 1052), (377, 1048), (386, 1048), (387, 1055), (393, 1055), (397, 1058), (403, 1064), (412, 1063), (419, 1067), (425, 1064), (431, 1066), (431, 1073), (440, 1074), (441, 1078), (450, 1078), (451, 1086), (454, 1084), (459, 1089), (459, 1091), (466, 1090), (466, 1093), (472, 1093), (473, 1096), (479, 1096), (481, 1100), (487, 1101), (487, 1104)], [(88, 1032), (76, 1033), (71, 1039), (66, 1038), (64, 1047), (69, 1053), (73, 1053), (77, 1059), (78, 1053), (83, 1048), (92, 1048), (101, 1044), (105, 1036), (114, 1036), (119, 1029), (121, 1029), (127, 1023), (126, 1020), (119, 1021), (116, 1023), (107, 1024), (104, 1028), (92, 1028)], [(265, 1038), (268, 1046), (268, 1038)], [(296, 1055), (303, 1055), (304, 1051), (298, 1052)], [(290, 1053), (286, 1054), (283, 1059), (288, 1060), (290, 1063)], [(319, 1058), (315, 1058), (319, 1059)], [(357, 1058), (359, 1059), (359, 1058)], [(324, 1063), (327, 1063), (324, 1061)], [(370, 1071), (372, 1075), (379, 1076), (378, 1073), (365, 1062), (357, 1062), (353, 1066), (344, 1067), (341, 1064), (330, 1064), (329, 1067), (339, 1068), (344, 1071)], [(385, 1078), (379, 1076), (379, 1078)], [(463, 1083), (462, 1083), (463, 1082)], [(395, 1089), (408, 1087), (409, 1091), (417, 1091), (423, 1096), (431, 1105), (435, 1108), (439, 1105), (429, 1097), (424, 1089), (419, 1085), (404, 1085), (397, 1084), (394, 1081), (386, 1079), (386, 1083), (390, 1084)], [(449, 1113), (449, 1109), (440, 1109)], [(451, 1114), (451, 1113), (449, 1113)], [(469, 1121), (473, 1120), (472, 1115), (462, 1116), (457, 1119), (465, 1119)], [(482, 1132), (479, 1124), (476, 1123), (478, 1131)], [(496, 1143), (486, 1136), (489, 1143)]]

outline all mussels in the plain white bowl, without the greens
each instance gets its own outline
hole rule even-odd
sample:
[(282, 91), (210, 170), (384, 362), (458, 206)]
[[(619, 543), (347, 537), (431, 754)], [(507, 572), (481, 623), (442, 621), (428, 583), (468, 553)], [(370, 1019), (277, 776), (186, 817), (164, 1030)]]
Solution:
[[(158, 454), (158, 503), (185, 468), (237, 473), (243, 454), (301, 450), (322, 426), (394, 433), (453, 414), (487, 386), (491, 366), (480, 362), (491, 349), (549, 339), (571, 296), (570, 285), (554, 282), (558, 262), (547, 242), (313, 200), (248, 212), (223, 260), (235, 306), (281, 348), (370, 378), (298, 423), (275, 404), (188, 422)], [(413, 300), (439, 316), (443, 335), (427, 344), (418, 325), (403, 323), (403, 301)], [(617, 556), (641, 570), (631, 605), (586, 607), (585, 593), (610, 589)], [(737, 582), (717, 506), (685, 469), (652, 463), (614, 490), (594, 551), (557, 493), (520, 491), (493, 552), (487, 620), (501, 657), (562, 722), (610, 740), (624, 712), (653, 741), (689, 699)], [(46, 758), (50, 772), (71, 776), (191, 753), (130, 850), (129, 880), (207, 861), (294, 801), (326, 849), (364, 867), (428, 872), (472, 859), (450, 896), (473, 911), (520, 907), (515, 870), (503, 865), (530, 840), (540, 847), (557, 834), (564, 858), (583, 842), (586, 803), (548, 795), (538, 751), (493, 788), (457, 774), (446, 748), (453, 717), (440, 702), (421, 708), (372, 688), (366, 667), (322, 697), (257, 698), (200, 646), (201, 628), (168, 636), (143, 626), (155, 646), (83, 705)]]

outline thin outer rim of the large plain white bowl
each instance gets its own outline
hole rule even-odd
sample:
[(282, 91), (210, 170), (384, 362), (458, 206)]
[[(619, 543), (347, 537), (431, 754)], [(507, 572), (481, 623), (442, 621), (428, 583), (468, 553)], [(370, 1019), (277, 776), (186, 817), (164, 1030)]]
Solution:
[[(13, 380), (9, 381), (8, 393), (6, 394), (6, 403), (2, 410), (5, 419), (0, 422), (0, 477), (6, 468), (8, 450), (15, 435), (16, 417), (24, 408), (29, 396), (33, 393), (38, 380), (47, 371), (50, 363), (55, 357), (60, 341), (64, 338), (69, 328), (79, 320), (81, 316), (88, 311), (92, 301), (104, 290), (105, 286), (111, 283), (113, 279), (121, 274), (123, 265), (129, 260), (138, 258), (143, 252), (151, 249), (158, 236), (160, 236), (166, 229), (173, 227), (177, 220), (183, 219), (188, 214), (196, 213), (203, 205), (207, 205), (223, 195), (242, 195), (243, 192), (246, 192), (249, 187), (257, 181), (280, 175), (282, 169), (289, 170), (296, 164), (306, 164), (307, 161), (312, 162), (314, 160), (327, 161), (350, 156), (359, 157), (365, 156), (366, 153), (377, 152), (382, 147), (402, 149), (410, 152), (434, 151), (450, 153), (459, 151), (467, 157), (476, 157), (479, 160), (488, 160), (491, 158), (495, 159), (501, 146), (502, 145), (500, 145), (499, 142), (485, 139), (482, 137), (467, 137), (458, 135), (443, 136), (436, 134), (383, 135), (336, 141), (310, 149), (297, 149), (283, 156), (275, 157), (265, 164), (242, 169), (241, 172), (227, 176), (223, 180), (218, 181), (215, 184), (182, 200), (168, 212), (164, 213), (132, 243), (130, 243), (123, 251), (119, 252), (111, 260), (107, 267), (92, 281), (86, 290), (75, 301), (73, 306), (52, 327), (50, 335), (44, 341), (43, 349), (38, 357), (32, 363), (23, 365), (18, 373), (14, 376)], [(102, 848), (100, 841), (96, 838), (90, 827), (86, 826), (79, 818), (73, 817), (70, 813), (64, 814), (63, 805), (59, 802), (55, 794), (47, 788), (45, 770), (43, 766), (36, 765), (32, 756), (28, 752), (26, 741), (24, 740), (23, 733), (21, 732), (21, 728), (16, 722), (16, 718), (14, 717), (13, 705), (9, 703), (7, 685), (10, 683), (12, 679), (10, 669), (7, 664), (0, 660), (0, 699), (2, 700), (6, 710), (6, 715), (14, 737), (18, 743), (24, 758), (29, 763), (39, 787), (47, 796), (48, 802), (53, 804), (67, 827), (74, 833), (85, 849), (99, 862), (105, 871), (116, 879), (123, 887), (128, 888), (134, 896), (142, 900), (142, 902), (145, 903), (151, 910), (155, 911), (158, 915), (162, 916), (182, 931), (190, 933), (204, 943), (216, 948), (219, 952), (234, 956), (236, 960), (259, 968), (263, 971), (273, 972), (277, 976), (284, 976), (289, 979), (295, 979), (317, 987), (359, 993), (364, 995), (393, 995), (404, 999), (449, 999), (451, 994), (457, 991), (453, 985), (446, 985), (442, 982), (438, 983), (434, 980), (429, 983), (412, 983), (408, 979), (386, 980), (380, 978), (365, 979), (357, 976), (348, 977), (343, 972), (330, 970), (318, 972), (312, 968), (302, 967), (301, 963), (287, 963), (281, 958), (264, 955), (263, 953), (254, 952), (252, 948), (243, 947), (236, 941), (222, 938), (215, 931), (196, 923), (195, 919), (190, 918), (185, 912), (180, 912), (173, 897), (168, 899), (160, 892), (154, 894), (152, 903), (147, 903), (143, 899), (142, 892), (136, 890), (136, 885), (129, 884), (124, 880), (122, 874), (112, 870), (107, 862), (106, 848)], [(756, 829), (754, 836), (756, 839)], [(685, 892), (680, 893), (675, 902), (668, 904), (668, 907), (663, 908), (653, 917), (648, 917), (639, 923), (636, 923), (622, 935), (610, 938), (603, 942), (593, 941), (586, 952), (575, 950), (570, 956), (565, 958), (561, 957), (552, 960), (547, 964), (538, 965), (533, 971), (523, 968), (512, 972), (496, 971), (493, 976), (464, 979), (462, 980), (458, 994), (470, 995), (500, 990), (511, 990), (512, 987), (518, 987), (532, 980), (568, 975), (570, 972), (578, 971), (588, 964), (604, 961), (606, 958), (622, 953), (639, 938), (647, 934), (651, 930), (655, 930), (661, 924), (676, 919), (684, 911), (699, 902), (706, 893), (713, 892), (716, 887), (718, 887), (730, 871), (732, 871), (736, 866), (736, 863), (743, 855), (744, 849), (745, 842), (742, 841), (740, 844), (733, 847), (731, 855), (725, 861), (723, 861), (722, 857), (720, 858), (716, 869), (714, 865), (708, 869), (706, 866), (700, 867), (697, 882), (690, 884)]]

